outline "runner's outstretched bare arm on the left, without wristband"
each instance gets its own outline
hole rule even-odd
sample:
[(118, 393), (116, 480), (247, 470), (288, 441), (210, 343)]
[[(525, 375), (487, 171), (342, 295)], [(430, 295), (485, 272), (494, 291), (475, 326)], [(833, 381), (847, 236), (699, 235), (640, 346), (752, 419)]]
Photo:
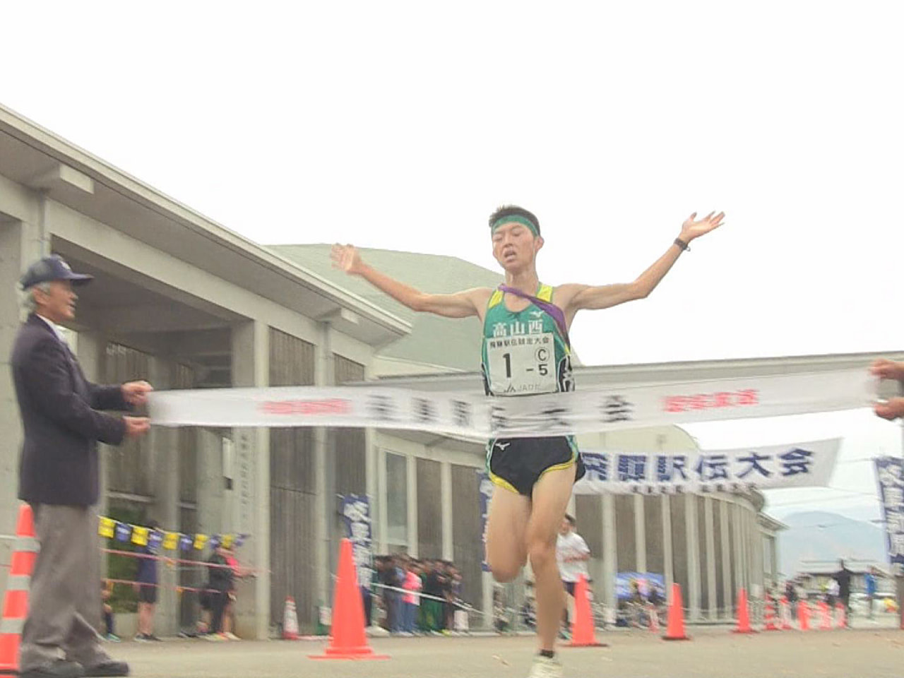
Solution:
[(330, 256), (333, 258), (334, 268), (341, 268), (350, 276), (361, 276), (373, 287), (385, 292), (401, 305), (408, 306), (412, 311), (444, 315), (448, 318), (466, 318), (470, 315), (480, 315), (479, 309), (486, 305), (490, 295), (490, 290), (485, 287), (466, 289), (451, 295), (421, 292), (365, 264), (353, 245), (336, 244)]

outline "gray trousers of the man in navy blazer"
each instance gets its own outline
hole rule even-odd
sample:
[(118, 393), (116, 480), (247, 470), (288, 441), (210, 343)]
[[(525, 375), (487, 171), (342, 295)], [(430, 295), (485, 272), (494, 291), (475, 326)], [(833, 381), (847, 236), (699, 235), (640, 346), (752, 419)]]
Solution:
[(93, 506), (32, 504), (41, 551), (34, 562), (21, 670), (61, 656), (83, 666), (109, 657), (99, 645), (100, 548)]

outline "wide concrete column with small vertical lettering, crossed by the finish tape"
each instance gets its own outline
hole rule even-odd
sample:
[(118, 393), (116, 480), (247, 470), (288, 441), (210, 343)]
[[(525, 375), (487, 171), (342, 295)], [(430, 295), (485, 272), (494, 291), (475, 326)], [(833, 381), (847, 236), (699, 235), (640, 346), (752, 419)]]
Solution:
[[(233, 386), (262, 387), (269, 383), (269, 327), (252, 320), (232, 328)], [(257, 577), (239, 585), (236, 607), (238, 634), (263, 640), (270, 626), (270, 432), (268, 428), (236, 428), (238, 519), (236, 531), (250, 534), (242, 560)]]

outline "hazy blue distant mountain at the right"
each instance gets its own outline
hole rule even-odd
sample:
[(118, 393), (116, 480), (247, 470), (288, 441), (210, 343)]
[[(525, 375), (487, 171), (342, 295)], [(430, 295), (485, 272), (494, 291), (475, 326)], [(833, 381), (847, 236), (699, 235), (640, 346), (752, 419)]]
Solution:
[(828, 511), (790, 513), (779, 536), (779, 567), (786, 575), (800, 570), (802, 560), (878, 560), (885, 562), (885, 532), (879, 525)]

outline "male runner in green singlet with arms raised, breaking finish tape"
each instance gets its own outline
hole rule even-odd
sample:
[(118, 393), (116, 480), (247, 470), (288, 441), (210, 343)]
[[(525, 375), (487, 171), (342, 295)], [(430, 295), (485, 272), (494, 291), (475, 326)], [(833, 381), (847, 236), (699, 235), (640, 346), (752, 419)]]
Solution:
[[(335, 245), (334, 266), (361, 276), (413, 311), (447, 317), (476, 315), (484, 324), (482, 371), (487, 395), (515, 396), (572, 391), (568, 330), (575, 314), (647, 297), (688, 244), (720, 226), (724, 212), (684, 221), (679, 237), (634, 282), (618, 285), (541, 285), (537, 252), (543, 246), (540, 221), (527, 210), (507, 206), (489, 220), (493, 256), (505, 271), (497, 289), (476, 287), (456, 294), (426, 294), (363, 262), (352, 245)], [(516, 337), (519, 341), (504, 342)], [(499, 339), (503, 341), (497, 341)], [(522, 344), (520, 339), (525, 341)], [(540, 654), (531, 678), (557, 678), (555, 658), (565, 595), (556, 561), (556, 538), (571, 495), (584, 475), (573, 437), (497, 438), (487, 445), (487, 470), (495, 485), (486, 534), (486, 557), (497, 581), (517, 577), (531, 559), (537, 596)]]

